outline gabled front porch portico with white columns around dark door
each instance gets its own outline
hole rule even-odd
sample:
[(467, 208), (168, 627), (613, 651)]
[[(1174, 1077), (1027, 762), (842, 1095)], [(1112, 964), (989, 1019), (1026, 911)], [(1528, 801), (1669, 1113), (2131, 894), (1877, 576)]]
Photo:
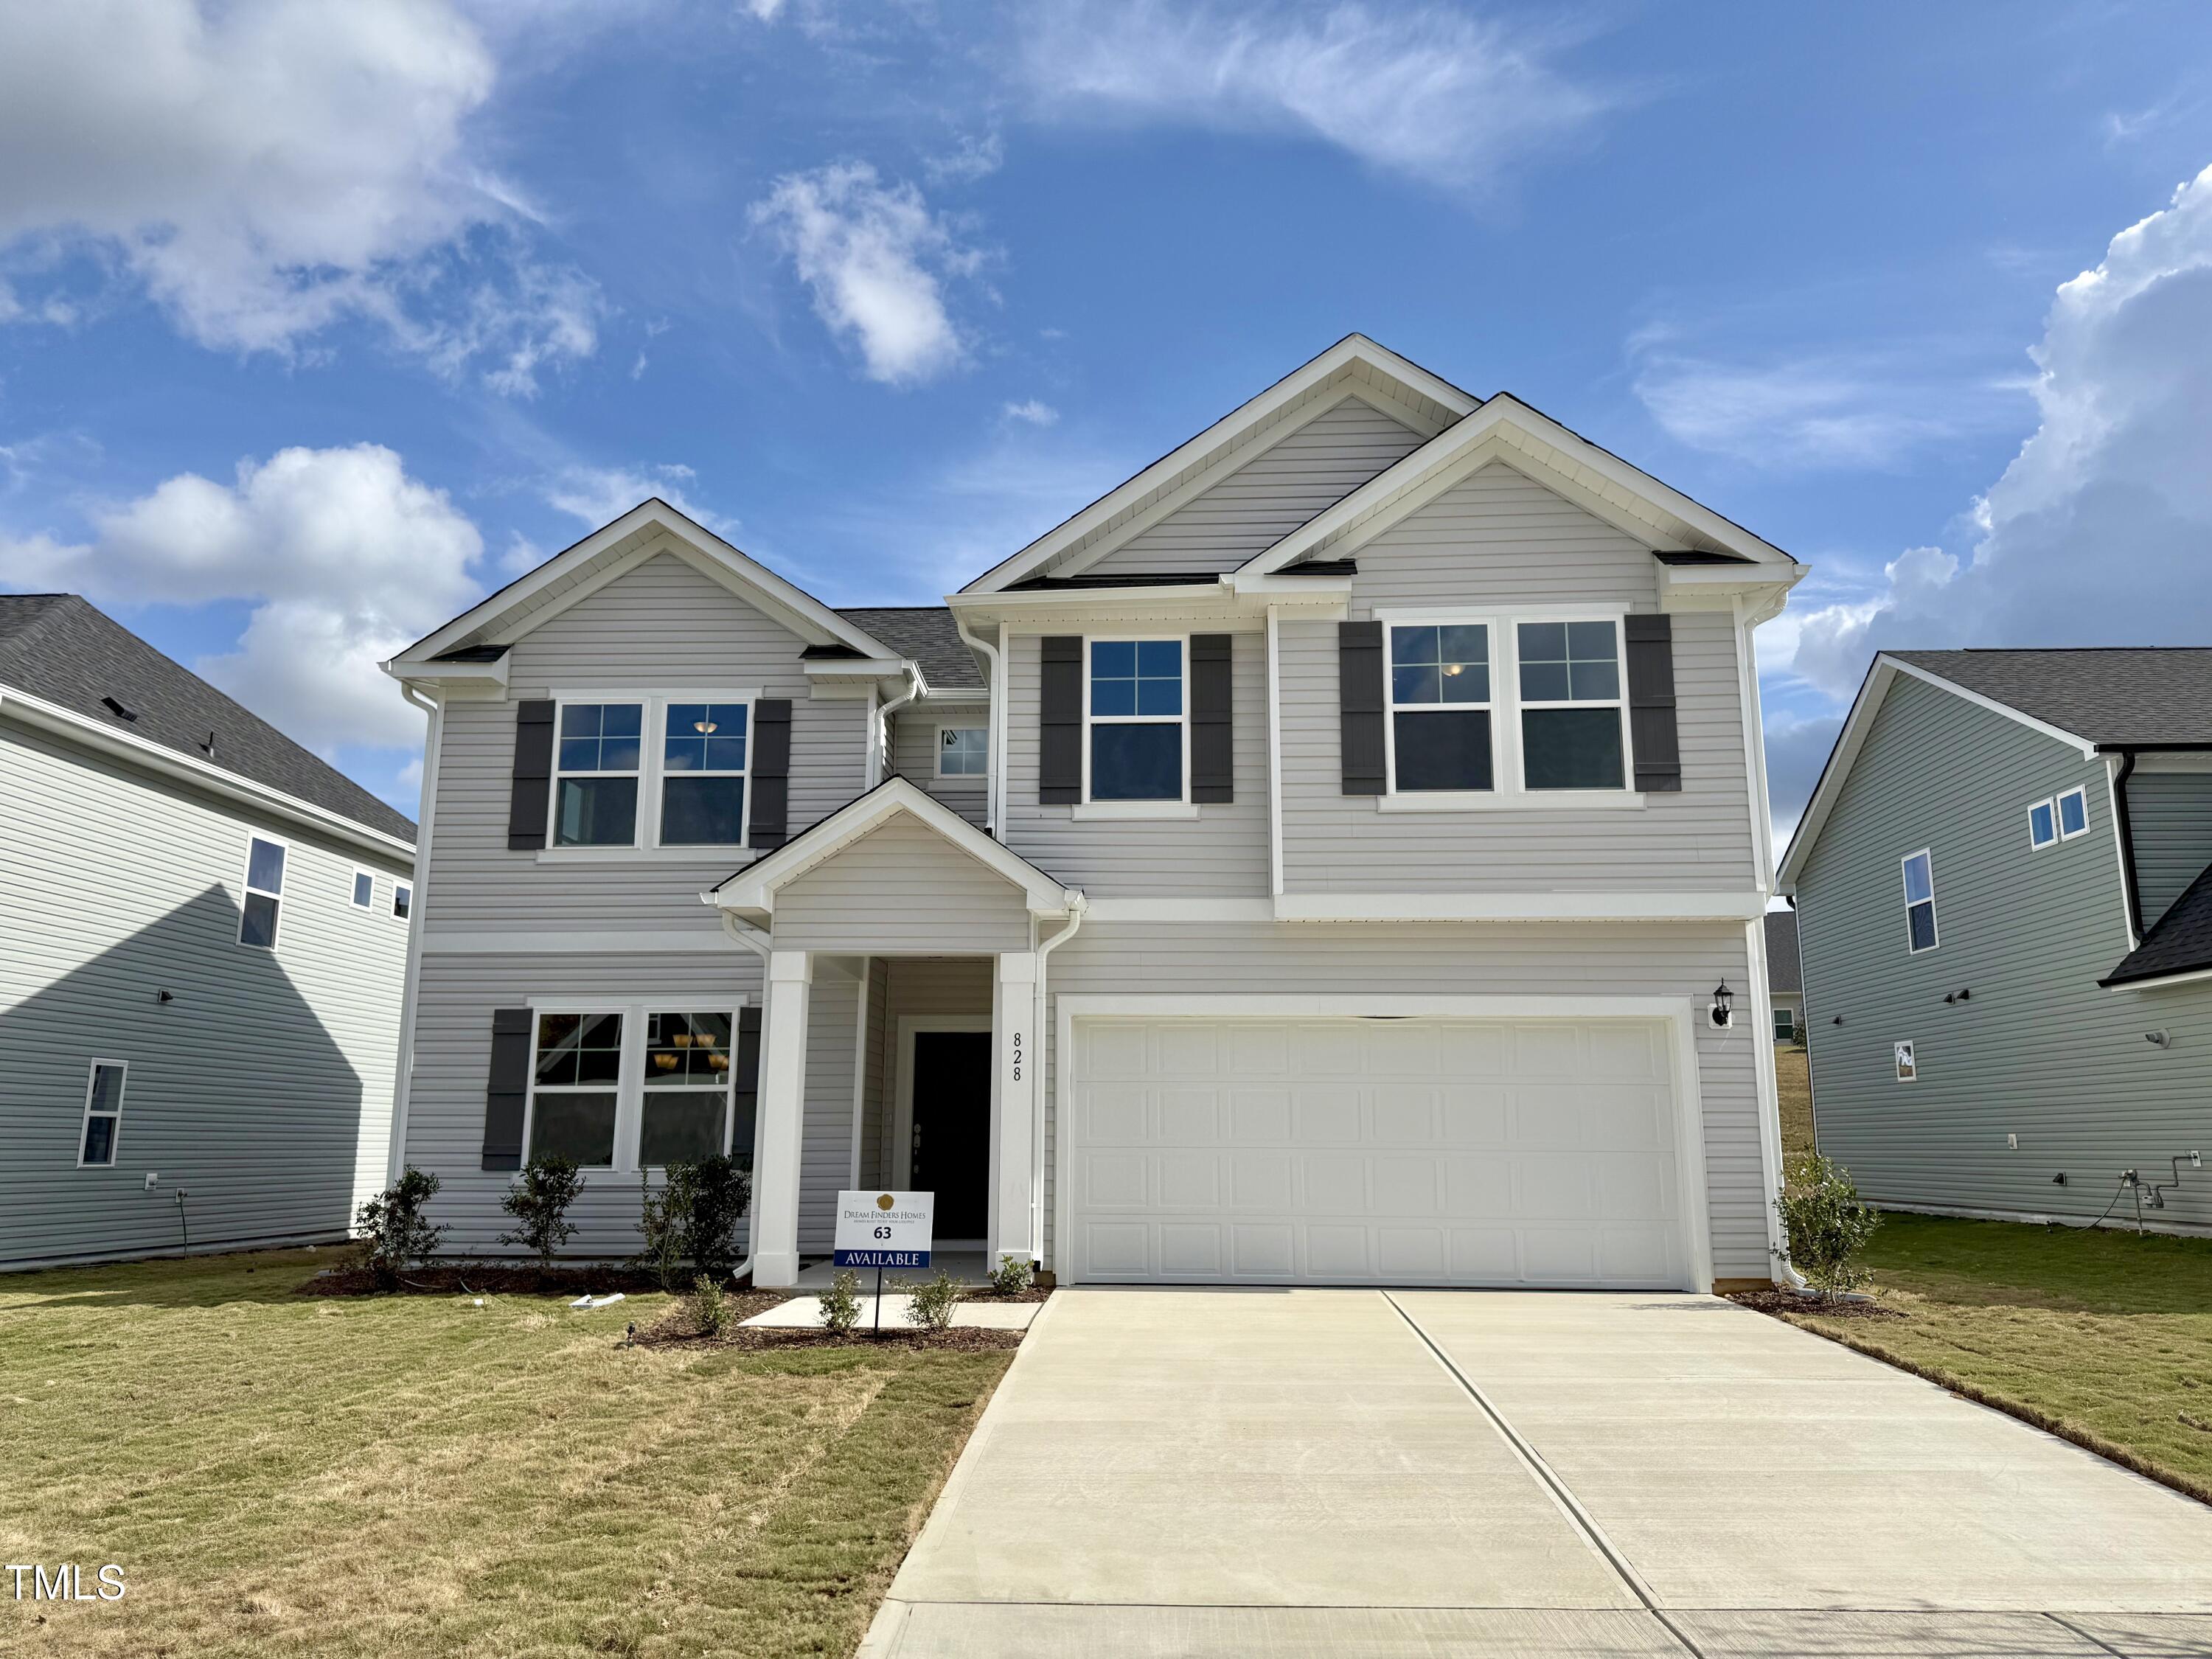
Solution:
[[(964, 1159), (984, 1166), (982, 1237), (947, 1234), (949, 1219), (969, 1234), (973, 1221), (947, 1217), (942, 1199), (938, 1237), (980, 1243), (987, 1261), (1040, 1259), (1035, 1033), (1044, 962), (1084, 896), (889, 779), (703, 898), (765, 958), (752, 1281), (796, 1285), (801, 1259), (827, 1254), (838, 1188), (914, 1179), (971, 1199)], [(987, 1077), (982, 1053), (960, 1053), (975, 1037), (938, 1040), (969, 1031), (989, 1033)], [(810, 1060), (845, 1053), (849, 1104), (818, 1079), (810, 1088)]]

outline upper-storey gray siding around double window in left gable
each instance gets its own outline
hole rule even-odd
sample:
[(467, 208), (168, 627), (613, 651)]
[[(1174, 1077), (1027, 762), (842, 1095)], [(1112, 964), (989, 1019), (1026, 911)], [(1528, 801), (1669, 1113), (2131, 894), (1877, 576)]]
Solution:
[(865, 699), (814, 699), (803, 641), (684, 560), (661, 553), (544, 622), (509, 653), (509, 701), (445, 708), (425, 925), (438, 929), (686, 927), (719, 922), (699, 894), (748, 854), (509, 852), (515, 701), (555, 690), (759, 686), (792, 699), (792, 834), (860, 794)]

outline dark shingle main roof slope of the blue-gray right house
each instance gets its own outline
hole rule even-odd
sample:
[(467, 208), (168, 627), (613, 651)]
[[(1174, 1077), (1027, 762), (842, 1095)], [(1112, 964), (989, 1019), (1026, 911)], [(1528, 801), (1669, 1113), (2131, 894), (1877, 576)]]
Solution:
[(1891, 650), (2090, 743), (2212, 743), (2212, 648)]

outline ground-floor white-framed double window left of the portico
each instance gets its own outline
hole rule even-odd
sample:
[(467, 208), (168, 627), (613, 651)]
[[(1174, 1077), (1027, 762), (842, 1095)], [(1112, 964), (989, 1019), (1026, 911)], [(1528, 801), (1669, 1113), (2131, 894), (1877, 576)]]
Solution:
[(677, 998), (540, 1009), (524, 1157), (641, 1170), (732, 1152), (752, 1168), (752, 1121), (732, 1124), (737, 1013)]

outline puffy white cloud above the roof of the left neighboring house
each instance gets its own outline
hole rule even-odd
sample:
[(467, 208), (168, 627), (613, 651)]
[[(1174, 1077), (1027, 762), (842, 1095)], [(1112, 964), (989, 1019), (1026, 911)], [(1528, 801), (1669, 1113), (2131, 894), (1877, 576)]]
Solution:
[(0, 538), (0, 582), (111, 606), (246, 599), (199, 672), (321, 752), (409, 745), (422, 717), (376, 664), (480, 593), (476, 526), (380, 445), (279, 449), (234, 482), (179, 473), (91, 513), (93, 540)]

